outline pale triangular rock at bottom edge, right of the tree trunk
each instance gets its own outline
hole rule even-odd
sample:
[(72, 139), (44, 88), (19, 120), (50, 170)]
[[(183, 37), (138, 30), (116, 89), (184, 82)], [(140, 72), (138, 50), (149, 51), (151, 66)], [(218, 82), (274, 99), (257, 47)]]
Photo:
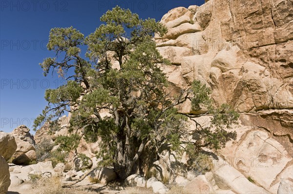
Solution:
[(184, 186), (184, 192), (190, 194), (214, 194), (215, 191), (209, 184), (205, 175), (198, 175)]

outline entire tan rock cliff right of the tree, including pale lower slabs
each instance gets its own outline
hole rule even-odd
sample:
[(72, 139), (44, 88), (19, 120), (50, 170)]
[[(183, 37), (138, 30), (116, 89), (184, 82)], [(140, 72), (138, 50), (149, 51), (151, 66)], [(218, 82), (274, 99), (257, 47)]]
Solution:
[(169, 92), (197, 79), (212, 90), (215, 106), (230, 104), (241, 115), (237, 140), (219, 151), (231, 173), (221, 179), (214, 172), (220, 190), (277, 193), (293, 177), (292, 13), (292, 0), (209, 0), (174, 8), (160, 21), (168, 33), (155, 41), (172, 64), (162, 66)]

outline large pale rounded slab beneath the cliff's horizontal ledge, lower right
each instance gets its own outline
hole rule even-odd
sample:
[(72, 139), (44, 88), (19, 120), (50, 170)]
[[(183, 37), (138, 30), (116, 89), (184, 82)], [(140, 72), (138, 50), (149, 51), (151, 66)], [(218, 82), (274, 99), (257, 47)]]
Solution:
[[(292, 160), (285, 148), (267, 132), (251, 131), (242, 139), (235, 152), (235, 168), (270, 190), (275, 177)], [(270, 170), (268, 170), (270, 169)], [(292, 172), (293, 176), (293, 172)], [(276, 193), (277, 191), (272, 191)]]

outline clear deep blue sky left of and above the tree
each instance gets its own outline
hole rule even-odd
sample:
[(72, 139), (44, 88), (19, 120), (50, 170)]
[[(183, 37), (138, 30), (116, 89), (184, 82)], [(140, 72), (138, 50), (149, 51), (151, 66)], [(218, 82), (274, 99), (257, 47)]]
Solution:
[[(117, 4), (141, 18), (160, 20), (170, 9), (202, 5), (204, 0), (0, 0), (0, 130), (11, 132), (24, 124), (32, 129), (46, 101), (47, 88), (62, 80), (43, 77), (39, 63), (53, 57), (46, 50), (49, 31), (73, 26), (89, 35), (100, 17)], [(34, 134), (34, 132), (31, 133)]]

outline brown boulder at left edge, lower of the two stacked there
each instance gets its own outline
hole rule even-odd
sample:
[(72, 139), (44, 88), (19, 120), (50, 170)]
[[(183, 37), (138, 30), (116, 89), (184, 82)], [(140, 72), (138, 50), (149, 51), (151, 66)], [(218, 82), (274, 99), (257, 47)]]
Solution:
[(6, 194), (10, 186), (9, 165), (4, 157), (0, 155), (0, 194)]

